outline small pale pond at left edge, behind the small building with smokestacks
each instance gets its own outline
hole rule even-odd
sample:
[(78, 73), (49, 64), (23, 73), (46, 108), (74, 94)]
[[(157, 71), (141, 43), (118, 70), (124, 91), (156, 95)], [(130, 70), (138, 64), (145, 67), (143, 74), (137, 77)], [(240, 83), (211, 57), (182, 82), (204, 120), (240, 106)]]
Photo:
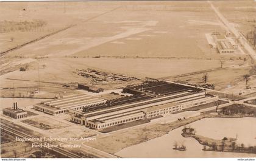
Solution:
[(40, 103), (47, 99), (39, 99), (39, 98), (0, 98), (0, 109), (10, 108), (13, 106), (13, 102), (18, 103), (18, 107), (26, 107), (31, 106), (35, 103)]

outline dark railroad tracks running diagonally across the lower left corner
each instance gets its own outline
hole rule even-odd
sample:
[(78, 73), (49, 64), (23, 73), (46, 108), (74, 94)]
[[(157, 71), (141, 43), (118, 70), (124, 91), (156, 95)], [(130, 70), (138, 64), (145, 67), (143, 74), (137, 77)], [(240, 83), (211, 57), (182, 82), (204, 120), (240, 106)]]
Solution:
[[(24, 132), (21, 132), (16, 129), (10, 128), (8, 126), (2, 125), (2, 123), (1, 123), (1, 129), (5, 132), (10, 132), (11, 134), (17, 135), (22, 138), (34, 138), (33, 136), (25, 134)], [(36, 142), (36, 141), (30, 141), (30, 142), (38, 144), (38, 142)], [(41, 143), (48, 143), (48, 142), (41, 142)], [(51, 149), (52, 151), (58, 152), (59, 154), (62, 154), (63, 156), (66, 156), (69, 158), (82, 158), (81, 156), (74, 154), (73, 152), (67, 151), (67, 150), (59, 148), (59, 147), (48, 148), (48, 149)]]

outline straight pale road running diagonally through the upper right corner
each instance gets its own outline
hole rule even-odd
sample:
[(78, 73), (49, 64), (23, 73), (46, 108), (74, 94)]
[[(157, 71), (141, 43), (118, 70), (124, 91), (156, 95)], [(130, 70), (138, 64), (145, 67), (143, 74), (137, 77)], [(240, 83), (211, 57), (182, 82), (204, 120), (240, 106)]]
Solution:
[(208, 3), (211, 5), (212, 9), (219, 17), (219, 19), (221, 19), (222, 23), (227, 27), (227, 29), (229, 29), (230, 32), (232, 32), (235, 35), (236, 38), (238, 38), (238, 41), (244, 46), (244, 49), (246, 49), (249, 52), (249, 55), (252, 57), (252, 59), (256, 61), (256, 53), (247, 42), (247, 39), (244, 38), (243, 34), (241, 34), (237, 29), (235, 29), (235, 26), (233, 26), (233, 24), (227, 21), (227, 19), (221, 14), (221, 12), (219, 12), (218, 9), (215, 8), (211, 1), (208, 1)]

